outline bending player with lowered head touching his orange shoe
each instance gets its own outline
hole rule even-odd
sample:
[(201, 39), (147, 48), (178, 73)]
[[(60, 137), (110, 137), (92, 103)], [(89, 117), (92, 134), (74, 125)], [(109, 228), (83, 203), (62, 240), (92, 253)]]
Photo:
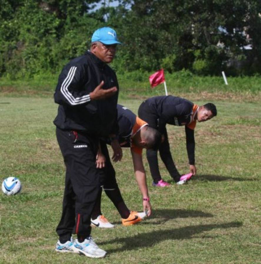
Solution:
[[(107, 145), (104, 140), (100, 140), (97, 167), (105, 169), (107, 178), (103, 185), (103, 189), (119, 211), (122, 217), (122, 224), (128, 226), (141, 221), (144, 216), (146, 216), (146, 213), (148, 216), (151, 214), (146, 174), (142, 162), (142, 149), (158, 149), (162, 136), (159, 131), (149, 127), (145, 121), (141, 120), (126, 107), (118, 104), (117, 110), (119, 125), (119, 134), (117, 138), (121, 147), (129, 147), (131, 150), (135, 177), (142, 193), (144, 212), (138, 213), (130, 211), (124, 203), (115, 179), (115, 170), (110, 161)], [(93, 226), (110, 228), (113, 227), (113, 225), (109, 223), (101, 212), (101, 195), (102, 188), (100, 189), (97, 202), (92, 212), (91, 222)]]

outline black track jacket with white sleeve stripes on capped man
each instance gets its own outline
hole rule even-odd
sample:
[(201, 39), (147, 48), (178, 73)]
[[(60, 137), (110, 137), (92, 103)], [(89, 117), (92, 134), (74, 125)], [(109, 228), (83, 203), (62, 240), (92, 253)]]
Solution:
[[(90, 101), (89, 93), (104, 81), (103, 89), (114, 86), (118, 91), (104, 100)], [(117, 134), (119, 85), (115, 72), (87, 51), (71, 60), (61, 71), (54, 93), (59, 104), (54, 124), (60, 129), (84, 131), (90, 135)]]

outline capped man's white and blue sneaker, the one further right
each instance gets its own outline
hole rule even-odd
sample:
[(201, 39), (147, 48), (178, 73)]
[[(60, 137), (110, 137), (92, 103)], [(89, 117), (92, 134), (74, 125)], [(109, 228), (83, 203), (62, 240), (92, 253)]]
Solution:
[(91, 236), (85, 238), (82, 243), (79, 243), (78, 239), (75, 239), (74, 247), (79, 254), (84, 254), (90, 258), (102, 258), (107, 253), (96, 245)]

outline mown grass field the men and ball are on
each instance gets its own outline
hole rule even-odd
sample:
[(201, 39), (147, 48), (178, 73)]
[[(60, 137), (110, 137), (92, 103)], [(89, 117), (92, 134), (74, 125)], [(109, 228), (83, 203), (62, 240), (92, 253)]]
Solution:
[[(54, 251), (64, 188), (52, 123), (57, 105), (51, 96), (0, 97), (0, 180), (16, 176), (23, 186), (19, 195), (0, 194), (0, 263), (261, 263), (260, 103), (205, 98), (215, 102), (218, 115), (197, 124), (197, 176), (183, 186), (152, 187), (144, 159), (153, 214), (124, 227), (103, 194), (102, 211), (116, 226), (92, 230), (108, 252), (98, 260)], [(137, 113), (141, 98), (119, 102)], [(177, 167), (187, 173), (184, 128), (167, 129)], [(118, 184), (128, 207), (141, 211), (130, 152), (123, 153), (115, 164)], [(171, 182), (162, 163), (160, 170)]]

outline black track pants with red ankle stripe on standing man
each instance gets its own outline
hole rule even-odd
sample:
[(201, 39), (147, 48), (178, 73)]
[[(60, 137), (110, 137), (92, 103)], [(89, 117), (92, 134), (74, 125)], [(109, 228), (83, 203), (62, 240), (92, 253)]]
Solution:
[(61, 240), (69, 240), (72, 233), (87, 237), (92, 210), (105, 179), (104, 170), (96, 168), (98, 139), (59, 128), (56, 137), (66, 166), (62, 215), (56, 232)]

